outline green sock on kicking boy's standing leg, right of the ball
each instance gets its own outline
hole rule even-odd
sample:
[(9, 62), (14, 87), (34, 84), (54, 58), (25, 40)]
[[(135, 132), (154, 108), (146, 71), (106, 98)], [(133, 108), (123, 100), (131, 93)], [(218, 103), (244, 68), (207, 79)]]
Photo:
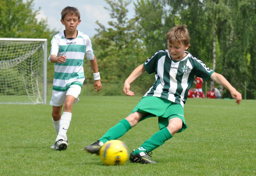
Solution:
[(163, 143), (171, 139), (172, 135), (168, 131), (168, 129), (165, 127), (158, 132), (156, 132), (153, 136), (150, 137), (150, 139), (146, 140), (137, 150), (135, 150), (133, 153), (135, 155), (139, 154), (140, 152), (151, 152), (157, 147), (163, 145)]

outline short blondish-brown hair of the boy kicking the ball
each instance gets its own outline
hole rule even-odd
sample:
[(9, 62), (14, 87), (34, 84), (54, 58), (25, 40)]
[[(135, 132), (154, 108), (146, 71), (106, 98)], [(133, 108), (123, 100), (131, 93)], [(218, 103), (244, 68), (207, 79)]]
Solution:
[(166, 34), (166, 40), (169, 43), (183, 43), (185, 46), (189, 44), (189, 33), (186, 28), (185, 24), (183, 25), (176, 25), (175, 27), (171, 28), (168, 33)]

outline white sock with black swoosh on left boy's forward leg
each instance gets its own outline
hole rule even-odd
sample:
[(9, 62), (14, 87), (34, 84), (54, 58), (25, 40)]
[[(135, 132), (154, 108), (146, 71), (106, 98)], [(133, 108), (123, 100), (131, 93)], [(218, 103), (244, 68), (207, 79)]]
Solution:
[(68, 113), (68, 112), (63, 112), (61, 118), (60, 118), (60, 127), (59, 127), (59, 132), (57, 135), (57, 138), (55, 141), (57, 140), (65, 140), (65, 137), (67, 135), (67, 131), (68, 131), (68, 127), (71, 121), (71, 117), (72, 117), (72, 113)]

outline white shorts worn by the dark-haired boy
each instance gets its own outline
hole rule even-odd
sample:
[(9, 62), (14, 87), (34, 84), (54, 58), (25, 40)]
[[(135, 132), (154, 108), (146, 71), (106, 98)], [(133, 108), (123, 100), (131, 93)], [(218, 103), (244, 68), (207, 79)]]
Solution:
[(67, 95), (72, 95), (73, 97), (75, 97), (74, 103), (77, 103), (79, 101), (78, 95), (80, 94), (80, 92), (81, 87), (76, 84), (71, 85), (66, 92), (53, 90), (51, 101), (49, 102), (49, 104), (53, 106), (61, 106), (64, 104)]

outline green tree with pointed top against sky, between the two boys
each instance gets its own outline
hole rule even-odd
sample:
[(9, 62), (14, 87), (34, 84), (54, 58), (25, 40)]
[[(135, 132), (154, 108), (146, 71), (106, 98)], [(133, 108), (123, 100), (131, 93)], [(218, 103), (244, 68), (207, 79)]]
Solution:
[(105, 1), (113, 21), (108, 22), (109, 28), (96, 21), (99, 28), (92, 42), (102, 81), (123, 83), (130, 71), (146, 60), (145, 51), (134, 26), (135, 19), (127, 19), (130, 0)]

